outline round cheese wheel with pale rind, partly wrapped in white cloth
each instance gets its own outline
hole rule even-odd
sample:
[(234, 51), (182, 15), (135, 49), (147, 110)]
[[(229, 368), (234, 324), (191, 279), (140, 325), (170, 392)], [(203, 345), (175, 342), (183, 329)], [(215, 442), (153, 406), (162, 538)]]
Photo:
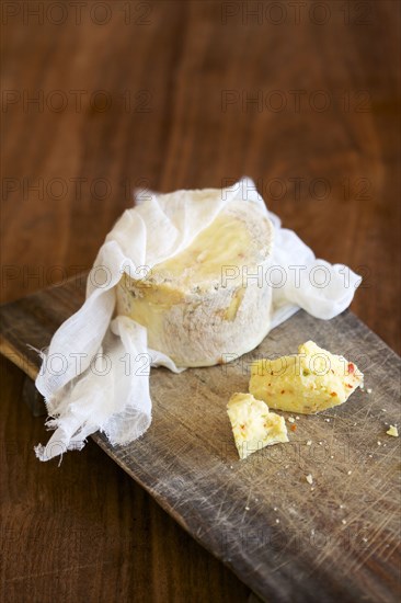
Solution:
[(257, 204), (229, 203), (182, 252), (117, 286), (117, 312), (147, 328), (148, 345), (177, 366), (225, 363), (270, 330), (265, 278), (273, 226)]

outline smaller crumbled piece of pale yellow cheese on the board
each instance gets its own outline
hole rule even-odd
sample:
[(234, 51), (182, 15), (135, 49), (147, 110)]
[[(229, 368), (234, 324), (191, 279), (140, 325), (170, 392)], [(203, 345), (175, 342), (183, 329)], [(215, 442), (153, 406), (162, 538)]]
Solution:
[(270, 412), (268, 407), (251, 394), (233, 394), (227, 412), (241, 459), (265, 446), (288, 442), (284, 418)]

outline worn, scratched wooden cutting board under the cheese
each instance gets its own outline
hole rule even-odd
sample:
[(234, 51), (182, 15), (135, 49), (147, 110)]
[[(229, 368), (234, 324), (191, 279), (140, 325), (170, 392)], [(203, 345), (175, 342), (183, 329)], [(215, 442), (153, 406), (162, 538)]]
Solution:
[[(1, 353), (34, 379), (38, 356), (26, 344), (46, 346), (83, 296), (81, 277), (3, 306)], [(356, 362), (371, 391), (296, 418), (288, 444), (240, 462), (227, 400), (247, 391), (252, 357), (294, 353), (308, 339)], [(400, 440), (386, 431), (400, 425), (400, 367), (353, 314), (320, 321), (299, 311), (230, 365), (152, 369), (149, 431), (118, 448), (93, 440), (262, 599), (397, 601)]]

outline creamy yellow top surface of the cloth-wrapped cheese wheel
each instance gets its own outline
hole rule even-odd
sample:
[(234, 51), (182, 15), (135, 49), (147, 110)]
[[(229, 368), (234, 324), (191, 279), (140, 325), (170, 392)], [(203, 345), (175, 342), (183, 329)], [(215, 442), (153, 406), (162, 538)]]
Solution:
[(160, 315), (183, 303), (186, 294), (237, 284), (225, 314), (232, 320), (244, 295), (243, 270), (251, 274), (267, 252), (267, 237), (265, 249), (257, 248), (243, 217), (224, 212), (186, 249), (153, 266), (141, 281), (124, 275), (122, 285), (135, 296), (130, 317), (148, 327), (149, 306)]

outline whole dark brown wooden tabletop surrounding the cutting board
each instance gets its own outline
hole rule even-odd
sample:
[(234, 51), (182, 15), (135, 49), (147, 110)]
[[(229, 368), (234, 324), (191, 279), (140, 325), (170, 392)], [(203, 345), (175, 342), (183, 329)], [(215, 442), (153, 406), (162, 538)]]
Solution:
[[(2, 5), (2, 302), (90, 268), (134, 187), (248, 174), (400, 352), (400, 3), (60, 5)], [(93, 443), (38, 464), (1, 369), (4, 600), (247, 600)]]

